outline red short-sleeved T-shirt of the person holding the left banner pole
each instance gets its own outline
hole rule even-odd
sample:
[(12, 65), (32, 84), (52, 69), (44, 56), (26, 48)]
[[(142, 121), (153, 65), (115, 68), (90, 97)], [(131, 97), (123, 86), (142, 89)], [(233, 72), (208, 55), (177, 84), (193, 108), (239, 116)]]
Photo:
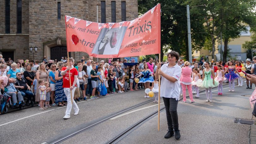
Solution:
[[(62, 67), (61, 71), (65, 71), (67, 69), (67, 67)], [(71, 79), (71, 84), (73, 84), (74, 82), (74, 76), (78, 75), (78, 72), (76, 70), (76, 68), (72, 68), (70, 70), (70, 79)], [(71, 85), (72, 86), (72, 85)], [(70, 84), (69, 84), (69, 75), (68, 75), (68, 71), (65, 73), (65, 75), (63, 76), (63, 88), (70, 88)]]

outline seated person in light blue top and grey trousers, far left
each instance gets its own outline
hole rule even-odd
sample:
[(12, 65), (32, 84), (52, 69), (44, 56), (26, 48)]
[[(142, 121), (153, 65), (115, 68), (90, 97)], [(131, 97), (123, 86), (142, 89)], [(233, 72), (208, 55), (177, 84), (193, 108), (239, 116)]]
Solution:
[[(7, 85), (6, 87), (8, 89), (8, 91), (6, 92), (6, 94), (10, 95), (12, 97), (12, 101), (13, 101), (13, 106), (14, 107), (18, 107), (18, 106), (25, 106), (24, 104), (24, 99), (23, 96), (21, 95), (21, 92), (18, 92), (13, 83), (10, 83), (9, 85)], [(17, 101), (17, 96), (18, 96), (18, 100), (19, 103)]]

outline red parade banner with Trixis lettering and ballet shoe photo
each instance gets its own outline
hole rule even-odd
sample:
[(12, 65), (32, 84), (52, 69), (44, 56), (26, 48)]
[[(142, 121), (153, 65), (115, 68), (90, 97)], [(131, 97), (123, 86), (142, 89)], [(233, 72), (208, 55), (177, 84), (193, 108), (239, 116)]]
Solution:
[(98, 58), (160, 54), (160, 4), (131, 21), (96, 23), (65, 16), (67, 51)]

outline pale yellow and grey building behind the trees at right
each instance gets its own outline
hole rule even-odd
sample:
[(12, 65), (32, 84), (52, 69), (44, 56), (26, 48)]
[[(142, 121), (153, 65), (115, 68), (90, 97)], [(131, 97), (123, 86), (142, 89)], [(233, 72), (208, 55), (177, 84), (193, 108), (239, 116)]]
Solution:
[[(237, 60), (246, 60), (247, 59), (247, 54), (246, 54), (246, 49), (242, 48), (242, 44), (245, 43), (245, 41), (251, 41), (251, 36), (252, 33), (250, 32), (250, 27), (247, 27), (247, 31), (241, 32), (240, 37), (236, 39), (230, 40), (228, 43), (228, 49), (230, 49), (229, 54), (230, 57), (227, 57), (227, 60), (230, 60), (232, 58), (236, 58)], [(221, 60), (221, 43), (216, 41), (215, 43), (215, 61)], [(222, 42), (222, 51), (224, 51), (224, 42)], [(201, 49), (200, 51), (194, 51), (193, 56), (194, 58), (198, 58), (200, 55), (205, 55), (208, 57), (208, 59), (211, 61), (212, 60), (212, 52), (209, 50)], [(252, 58), (250, 58), (252, 59)]]

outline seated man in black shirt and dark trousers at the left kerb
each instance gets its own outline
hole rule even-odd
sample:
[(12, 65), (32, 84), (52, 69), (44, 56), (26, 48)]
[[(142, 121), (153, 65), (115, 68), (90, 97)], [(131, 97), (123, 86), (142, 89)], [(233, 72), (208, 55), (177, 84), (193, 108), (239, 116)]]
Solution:
[(27, 97), (26, 106), (29, 106), (29, 101), (31, 101), (31, 105), (32, 105), (33, 104), (32, 103), (33, 93), (30, 89), (30, 86), (27, 84), (26, 79), (21, 78), (20, 72), (16, 73), (16, 77), (17, 77), (16, 78), (17, 82), (15, 83), (14, 87), (20, 91), (20, 93), (23, 97), (25, 97), (25, 95), (26, 95), (26, 97)]

